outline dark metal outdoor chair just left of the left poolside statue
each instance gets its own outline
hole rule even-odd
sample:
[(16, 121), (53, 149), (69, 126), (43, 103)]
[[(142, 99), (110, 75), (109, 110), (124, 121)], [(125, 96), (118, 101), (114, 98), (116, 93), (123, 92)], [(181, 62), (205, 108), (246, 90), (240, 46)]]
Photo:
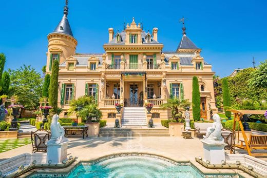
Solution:
[(44, 129), (31, 131), (31, 143), (32, 143), (32, 153), (35, 152), (46, 152), (47, 142), (50, 140), (51, 133)]

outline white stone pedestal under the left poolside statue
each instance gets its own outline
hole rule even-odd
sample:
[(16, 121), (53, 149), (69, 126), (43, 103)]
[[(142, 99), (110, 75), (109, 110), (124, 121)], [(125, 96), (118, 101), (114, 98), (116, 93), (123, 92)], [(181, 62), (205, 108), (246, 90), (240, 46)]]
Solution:
[(48, 142), (46, 163), (51, 160), (52, 164), (56, 164), (61, 163), (63, 160), (67, 159), (68, 142), (69, 141), (62, 143)]

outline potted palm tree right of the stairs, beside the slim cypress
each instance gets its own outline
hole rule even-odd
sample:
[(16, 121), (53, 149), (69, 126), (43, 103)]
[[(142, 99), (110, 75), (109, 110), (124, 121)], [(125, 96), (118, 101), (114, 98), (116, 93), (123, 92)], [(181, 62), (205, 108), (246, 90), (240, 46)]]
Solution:
[(179, 119), (183, 120), (182, 114), (186, 107), (190, 106), (190, 102), (188, 100), (180, 101), (179, 98), (173, 97), (167, 100), (167, 103), (163, 103), (161, 105), (162, 109), (170, 109), (172, 120), (176, 120), (179, 122)]

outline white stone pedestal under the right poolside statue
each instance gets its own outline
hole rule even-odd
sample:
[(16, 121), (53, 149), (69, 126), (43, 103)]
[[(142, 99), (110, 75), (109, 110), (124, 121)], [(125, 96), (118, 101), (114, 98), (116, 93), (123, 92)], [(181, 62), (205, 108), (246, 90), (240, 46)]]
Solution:
[(224, 141), (202, 140), (204, 148), (204, 161), (209, 161), (211, 164), (221, 164), (225, 161)]

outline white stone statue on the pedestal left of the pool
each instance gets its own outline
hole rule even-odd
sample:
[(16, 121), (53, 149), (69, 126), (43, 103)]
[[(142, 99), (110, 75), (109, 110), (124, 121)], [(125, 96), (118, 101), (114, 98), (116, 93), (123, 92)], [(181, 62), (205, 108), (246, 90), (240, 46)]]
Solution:
[(64, 128), (60, 125), (59, 123), (59, 115), (54, 114), (52, 117), (52, 122), (51, 122), (51, 139), (48, 141), (48, 143), (62, 143), (68, 141), (65, 139), (65, 130)]

